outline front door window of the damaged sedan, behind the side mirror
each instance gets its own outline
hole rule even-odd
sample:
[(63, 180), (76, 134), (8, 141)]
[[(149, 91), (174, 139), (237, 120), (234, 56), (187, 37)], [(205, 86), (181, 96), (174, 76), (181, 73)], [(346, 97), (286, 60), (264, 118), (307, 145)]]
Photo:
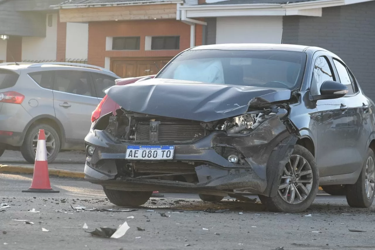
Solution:
[(320, 56), (315, 60), (312, 72), (311, 89), (314, 94), (320, 95), (320, 87), (327, 80), (335, 80), (329, 60), (325, 56)]

